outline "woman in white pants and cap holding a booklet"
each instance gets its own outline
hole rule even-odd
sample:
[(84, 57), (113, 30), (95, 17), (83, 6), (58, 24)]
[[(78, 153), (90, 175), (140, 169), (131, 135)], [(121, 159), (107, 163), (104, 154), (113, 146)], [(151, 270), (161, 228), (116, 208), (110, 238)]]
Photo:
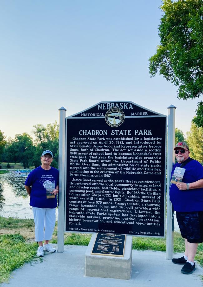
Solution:
[[(49, 245), (56, 221), (56, 194), (59, 190), (59, 173), (56, 168), (50, 166), (52, 161), (52, 152), (50, 150), (43, 151), (42, 165), (33, 169), (25, 182), (34, 215), (35, 241), (38, 241), (39, 244), (37, 256), (41, 257), (44, 256), (44, 251), (56, 251)], [(43, 240), (45, 241), (44, 244)]]

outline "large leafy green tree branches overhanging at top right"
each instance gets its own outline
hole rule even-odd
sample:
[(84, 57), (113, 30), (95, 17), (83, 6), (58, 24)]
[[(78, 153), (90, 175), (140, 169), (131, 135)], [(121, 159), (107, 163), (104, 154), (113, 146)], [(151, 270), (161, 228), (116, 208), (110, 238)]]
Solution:
[[(178, 86), (179, 99), (203, 93), (203, 0), (162, 0), (160, 45), (149, 61), (150, 75), (159, 71)], [(203, 101), (193, 122), (203, 127)]]

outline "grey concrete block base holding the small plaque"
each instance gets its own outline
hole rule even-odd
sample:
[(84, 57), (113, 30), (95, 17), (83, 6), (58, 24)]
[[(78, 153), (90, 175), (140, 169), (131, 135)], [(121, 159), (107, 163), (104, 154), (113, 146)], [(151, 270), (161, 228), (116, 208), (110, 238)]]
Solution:
[(85, 253), (85, 276), (129, 280), (132, 268), (132, 236), (126, 235), (124, 257), (91, 254), (97, 233), (92, 235)]

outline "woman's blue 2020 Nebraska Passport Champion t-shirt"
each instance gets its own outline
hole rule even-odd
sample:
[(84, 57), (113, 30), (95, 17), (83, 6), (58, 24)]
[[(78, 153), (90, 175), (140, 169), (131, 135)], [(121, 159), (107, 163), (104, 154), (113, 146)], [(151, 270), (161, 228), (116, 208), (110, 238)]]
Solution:
[(31, 206), (40, 208), (57, 207), (57, 198), (47, 199), (46, 183), (54, 183), (55, 188), (59, 184), (59, 173), (56, 168), (51, 167), (51, 169), (46, 170), (39, 166), (28, 174), (25, 185), (31, 186)]

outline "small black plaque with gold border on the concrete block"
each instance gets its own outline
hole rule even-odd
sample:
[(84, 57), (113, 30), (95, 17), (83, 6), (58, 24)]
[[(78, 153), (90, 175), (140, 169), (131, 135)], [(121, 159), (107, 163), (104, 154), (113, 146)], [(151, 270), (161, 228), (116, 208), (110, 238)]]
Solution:
[(98, 233), (91, 254), (124, 257), (126, 235)]

